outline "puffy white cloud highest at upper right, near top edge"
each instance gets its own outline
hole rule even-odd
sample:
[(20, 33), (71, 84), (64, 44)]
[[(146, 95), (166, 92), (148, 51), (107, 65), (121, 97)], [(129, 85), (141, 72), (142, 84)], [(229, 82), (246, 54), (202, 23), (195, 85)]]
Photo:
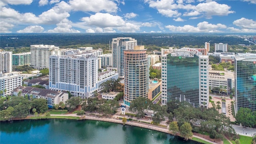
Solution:
[(212, 18), (212, 16), (227, 16), (234, 13), (230, 11), (230, 6), (226, 4), (218, 4), (215, 1), (200, 3), (196, 6), (196, 10), (205, 14), (206, 18)]

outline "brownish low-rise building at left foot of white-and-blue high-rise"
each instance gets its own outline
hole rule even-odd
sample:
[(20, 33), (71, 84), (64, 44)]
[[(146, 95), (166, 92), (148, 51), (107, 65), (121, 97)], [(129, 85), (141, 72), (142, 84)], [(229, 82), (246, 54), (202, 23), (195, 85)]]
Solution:
[(49, 76), (42, 76), (39, 78), (34, 78), (32, 80), (27, 79), (24, 80), (24, 84), (26, 84), (27, 86), (39, 85), (45, 87), (46, 89), (49, 89)]

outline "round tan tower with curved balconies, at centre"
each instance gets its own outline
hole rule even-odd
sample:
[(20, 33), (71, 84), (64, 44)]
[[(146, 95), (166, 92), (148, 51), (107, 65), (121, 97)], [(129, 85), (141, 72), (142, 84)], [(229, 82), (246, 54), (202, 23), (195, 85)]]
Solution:
[(149, 62), (144, 46), (124, 50), (124, 103), (130, 106), (138, 97), (148, 98)]

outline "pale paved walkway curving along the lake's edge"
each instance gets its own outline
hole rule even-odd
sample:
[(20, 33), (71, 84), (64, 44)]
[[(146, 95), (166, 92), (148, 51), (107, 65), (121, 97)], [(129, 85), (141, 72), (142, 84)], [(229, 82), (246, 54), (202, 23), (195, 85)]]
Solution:
[[(94, 114), (94, 113), (92, 113)], [(78, 116), (76, 114), (51, 114), (51, 116)], [(120, 115), (113, 115), (111, 117), (101, 117), (101, 116), (97, 116), (97, 115), (91, 115), (90, 113), (84, 115), (84, 116), (80, 116), (81, 119), (84, 119), (84, 120), (97, 120), (97, 121), (104, 121), (104, 122), (113, 122), (113, 123), (118, 123), (118, 124), (123, 124), (122, 120), (119, 119), (119, 118), (122, 118), (122, 117), (126, 117), (127, 118), (127, 122), (125, 123), (126, 125), (130, 125), (130, 126), (138, 126), (138, 127), (141, 127), (141, 128), (147, 128), (147, 129), (150, 129), (150, 130), (156, 130), (156, 131), (160, 131), (160, 132), (165, 132), (167, 134), (172, 134), (172, 132), (169, 131), (169, 128), (168, 128), (168, 125), (166, 128), (162, 127), (162, 126), (155, 126), (155, 125), (152, 125), (152, 124), (147, 124), (147, 123), (144, 123), (144, 122), (151, 122), (152, 120), (144, 120), (144, 119), (140, 119), (140, 121), (143, 121), (143, 122), (138, 122), (138, 121), (129, 121), (128, 118), (130, 117), (127, 117), (127, 116), (120, 116)], [(165, 124), (166, 125), (166, 124)], [(206, 142), (210, 142), (212, 144), (222, 144), (222, 142), (213, 142), (211, 140), (207, 140), (206, 138), (202, 138), (200, 136), (195, 136), (193, 135), (193, 137), (195, 138), (200, 138)]]

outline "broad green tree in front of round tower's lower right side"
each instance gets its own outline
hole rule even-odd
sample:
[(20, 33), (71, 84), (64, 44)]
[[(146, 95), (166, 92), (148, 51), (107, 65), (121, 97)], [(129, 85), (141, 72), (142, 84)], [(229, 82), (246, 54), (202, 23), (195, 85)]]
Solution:
[(148, 98), (138, 97), (132, 101), (129, 110), (131, 112), (138, 112), (137, 117), (142, 118), (144, 116), (144, 110), (151, 108), (152, 102)]

